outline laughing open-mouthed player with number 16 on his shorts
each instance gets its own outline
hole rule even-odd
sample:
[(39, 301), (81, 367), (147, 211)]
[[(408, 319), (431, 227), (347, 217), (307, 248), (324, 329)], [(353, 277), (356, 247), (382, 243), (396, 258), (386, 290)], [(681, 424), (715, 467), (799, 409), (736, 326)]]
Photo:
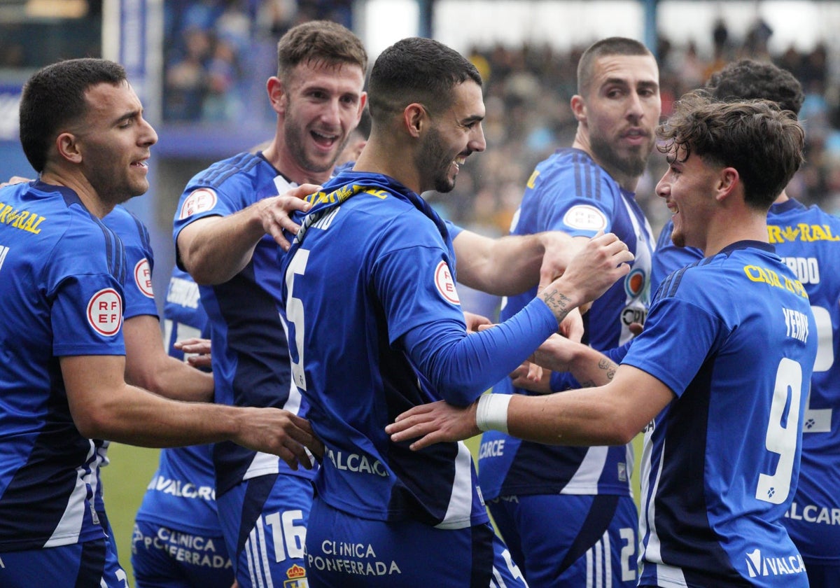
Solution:
[[(352, 32), (301, 24), (277, 46), (267, 83), (274, 139), (213, 164), (187, 184), (175, 218), (179, 263), (200, 286), (210, 319), (216, 402), (306, 414), (291, 386), (276, 269), (286, 192), (327, 181), (365, 106), (367, 54)], [(297, 206), (305, 205), (298, 202)], [(239, 585), (305, 581), (303, 539), (312, 474), (276, 456), (216, 444), (216, 497)]]

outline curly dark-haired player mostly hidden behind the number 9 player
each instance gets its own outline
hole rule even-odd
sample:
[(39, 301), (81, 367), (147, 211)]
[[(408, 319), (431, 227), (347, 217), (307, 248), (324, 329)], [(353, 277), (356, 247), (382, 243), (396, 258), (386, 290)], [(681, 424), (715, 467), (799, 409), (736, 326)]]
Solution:
[[(789, 71), (739, 60), (706, 84), (720, 100), (765, 98), (799, 113), (805, 96)], [(805, 286), (819, 341), (802, 428), (799, 485), (783, 522), (802, 554), (811, 588), (840, 585), (840, 218), (804, 207), (783, 190), (767, 215), (769, 242)], [(673, 223), (659, 235), (654, 281), (701, 259), (699, 249), (671, 241)]]

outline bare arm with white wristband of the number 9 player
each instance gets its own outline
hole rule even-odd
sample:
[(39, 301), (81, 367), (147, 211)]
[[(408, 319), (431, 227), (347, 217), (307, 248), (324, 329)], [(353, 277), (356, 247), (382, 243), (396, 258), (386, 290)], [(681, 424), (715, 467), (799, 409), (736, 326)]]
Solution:
[(674, 399), (664, 383), (621, 365), (606, 386), (549, 394), (485, 394), (468, 407), (434, 402), (413, 407), (386, 428), (394, 442), (417, 438), (412, 449), (499, 430), (542, 444), (629, 443)]

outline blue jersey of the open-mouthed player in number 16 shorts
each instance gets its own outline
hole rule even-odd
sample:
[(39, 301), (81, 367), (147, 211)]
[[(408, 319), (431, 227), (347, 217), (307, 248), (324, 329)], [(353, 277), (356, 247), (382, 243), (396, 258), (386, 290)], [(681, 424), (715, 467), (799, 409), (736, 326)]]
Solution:
[[(198, 218), (227, 216), (293, 185), (259, 154), (241, 153), (214, 163), (186, 185), (175, 217), (174, 237)], [(218, 286), (199, 286), (213, 332), (216, 402), (244, 407), (277, 407), (306, 416), (307, 406), (291, 385), (288, 345), (280, 321), (280, 247), (270, 235), (257, 244), (249, 264)], [(291, 470), (276, 455), (256, 453), (232, 442), (214, 445), (219, 495), (242, 480)]]

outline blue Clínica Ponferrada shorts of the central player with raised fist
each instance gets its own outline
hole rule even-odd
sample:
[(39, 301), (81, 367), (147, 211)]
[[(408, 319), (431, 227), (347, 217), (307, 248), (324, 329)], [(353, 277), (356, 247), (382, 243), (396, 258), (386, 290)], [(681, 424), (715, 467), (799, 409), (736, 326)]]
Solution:
[(315, 498), (307, 530), (310, 588), (527, 586), (489, 523), (438, 529), (354, 517)]

